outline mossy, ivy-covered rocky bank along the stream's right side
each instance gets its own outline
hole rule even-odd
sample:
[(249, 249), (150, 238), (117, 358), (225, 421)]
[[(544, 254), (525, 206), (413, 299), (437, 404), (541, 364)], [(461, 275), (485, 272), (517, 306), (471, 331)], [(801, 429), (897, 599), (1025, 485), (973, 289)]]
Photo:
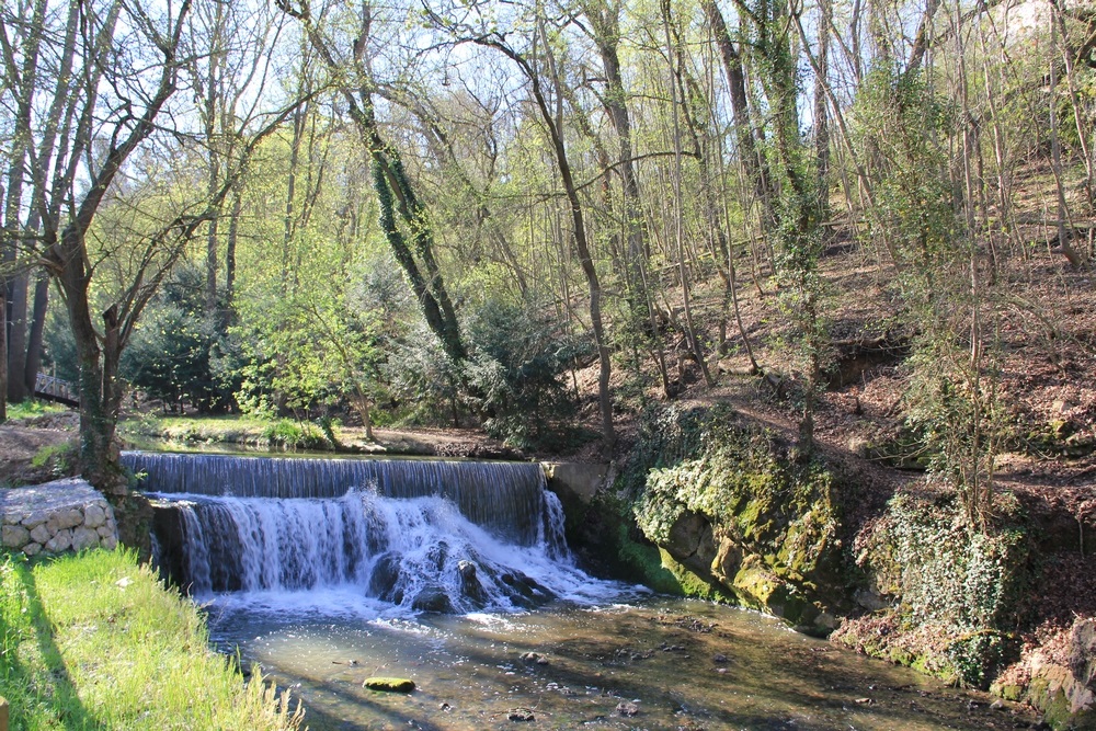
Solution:
[(1053, 728), (1096, 729), (1092, 619), (1074, 627), (1069, 662), (1037, 663), (1020, 685), (998, 679), (1028, 641), (1048, 557), (1046, 519), (1011, 493), (995, 496), (991, 529), (975, 530), (947, 490), (869, 495), (719, 406), (649, 414), (614, 487), (680, 591), (801, 631), (836, 629), (835, 641), (867, 654), (958, 685), (994, 684), (1043, 709)]

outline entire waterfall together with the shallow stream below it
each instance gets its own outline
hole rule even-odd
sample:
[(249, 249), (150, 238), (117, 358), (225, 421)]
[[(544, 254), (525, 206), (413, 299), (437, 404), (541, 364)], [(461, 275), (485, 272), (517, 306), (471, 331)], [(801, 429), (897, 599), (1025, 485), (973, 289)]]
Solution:
[[(161, 570), (209, 599), (216, 646), (294, 687), (315, 731), (482, 731), (515, 710), (614, 731), (974, 731), (1006, 718), (760, 615), (586, 575), (536, 465), (125, 460), (160, 505)], [(551, 597), (568, 601), (514, 612)], [(418, 687), (364, 688), (376, 674)]]

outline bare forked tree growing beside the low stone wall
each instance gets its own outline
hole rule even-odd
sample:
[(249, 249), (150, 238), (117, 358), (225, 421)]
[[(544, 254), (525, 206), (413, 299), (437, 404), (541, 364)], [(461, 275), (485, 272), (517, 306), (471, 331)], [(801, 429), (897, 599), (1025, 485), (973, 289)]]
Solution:
[[(194, 0), (170, 8), (73, 2), (67, 14), (42, 15), (37, 43), (59, 59), (53, 67), (57, 76), (53, 87), (28, 87), (34, 93), (20, 98), (20, 108), (31, 111), (15, 119), (15, 137), (24, 144), (13, 169), (33, 181), (34, 193), (9, 192), (8, 207), (34, 224), (23, 229), (26, 251), (49, 272), (64, 299), (80, 366), (80, 468), (112, 494), (125, 492), (115, 441), (122, 352), (159, 285), (231, 187), (228, 182), (212, 196), (182, 196), (174, 205), (144, 209), (130, 216), (135, 226), (129, 230), (100, 226), (104, 212), (148, 198), (135, 192), (155, 190), (149, 183), (164, 174), (163, 160), (185, 147), (185, 130), (176, 126), (173, 135), (163, 134), (161, 121), (179, 91), (185, 64), (180, 54), (193, 9)], [(45, 25), (55, 20), (58, 28)], [(2, 45), (8, 68), (18, 67), (11, 44)], [(53, 91), (48, 103), (37, 95), (42, 89)], [(62, 111), (54, 114), (57, 106)], [(35, 117), (41, 108), (49, 110), (44, 124)], [(251, 137), (229, 163), (235, 170), (229, 181), (284, 113), (273, 116), (260, 129), (253, 129), (255, 117), (238, 121), (237, 129)], [(145, 159), (137, 164), (141, 150)], [(103, 273), (111, 271), (122, 276), (104, 287)]]

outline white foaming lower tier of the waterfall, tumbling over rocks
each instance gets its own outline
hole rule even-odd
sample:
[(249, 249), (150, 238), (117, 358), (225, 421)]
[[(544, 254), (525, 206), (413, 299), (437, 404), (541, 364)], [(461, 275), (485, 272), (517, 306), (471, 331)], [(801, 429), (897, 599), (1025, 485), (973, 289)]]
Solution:
[(157, 496), (179, 510), (183, 583), (226, 609), (368, 619), (518, 612), (553, 598), (591, 605), (636, 594), (574, 567), (562, 507), (547, 491), (528, 546), (506, 542), (437, 495)]

